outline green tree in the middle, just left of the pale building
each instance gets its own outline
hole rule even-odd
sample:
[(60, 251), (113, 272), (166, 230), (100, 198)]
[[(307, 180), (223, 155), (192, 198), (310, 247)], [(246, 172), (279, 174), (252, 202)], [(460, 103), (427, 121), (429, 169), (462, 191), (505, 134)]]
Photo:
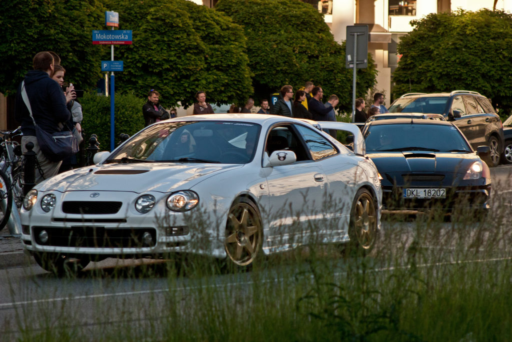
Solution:
[[(337, 94), (340, 107), (352, 108), (352, 69), (345, 68), (345, 42), (338, 44), (322, 14), (300, 0), (220, 0), (216, 10), (244, 28), (249, 67), (257, 99), (290, 84), (306, 81)], [(358, 69), (357, 93), (375, 84), (371, 56), (368, 68)]]

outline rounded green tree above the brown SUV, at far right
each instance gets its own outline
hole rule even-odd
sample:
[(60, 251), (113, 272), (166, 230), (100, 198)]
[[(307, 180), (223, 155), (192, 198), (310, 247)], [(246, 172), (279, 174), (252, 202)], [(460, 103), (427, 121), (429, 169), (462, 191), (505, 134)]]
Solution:
[(398, 44), (393, 94), (473, 90), (512, 108), (512, 15), (487, 9), (429, 14)]

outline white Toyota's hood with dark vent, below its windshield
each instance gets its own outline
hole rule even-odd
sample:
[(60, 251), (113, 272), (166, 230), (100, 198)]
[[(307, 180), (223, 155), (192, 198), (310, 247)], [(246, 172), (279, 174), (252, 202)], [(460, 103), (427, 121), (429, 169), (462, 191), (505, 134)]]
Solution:
[(138, 163), (105, 164), (58, 174), (35, 188), (39, 191), (145, 191), (190, 189), (202, 180), (240, 164)]

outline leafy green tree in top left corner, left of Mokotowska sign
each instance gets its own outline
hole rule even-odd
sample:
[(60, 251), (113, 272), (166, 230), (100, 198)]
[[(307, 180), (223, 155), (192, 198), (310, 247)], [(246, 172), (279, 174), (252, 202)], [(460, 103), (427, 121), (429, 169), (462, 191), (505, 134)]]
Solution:
[(96, 86), (100, 56), (106, 47), (92, 44), (92, 30), (104, 23), (96, 0), (16, 0), (2, 2), (0, 15), (0, 92), (16, 91), (39, 51), (55, 51), (66, 68), (66, 80), (77, 89)]

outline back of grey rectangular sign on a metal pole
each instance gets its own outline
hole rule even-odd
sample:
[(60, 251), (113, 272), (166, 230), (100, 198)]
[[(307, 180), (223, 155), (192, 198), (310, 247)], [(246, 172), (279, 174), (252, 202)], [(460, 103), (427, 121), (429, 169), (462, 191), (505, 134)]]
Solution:
[(347, 26), (345, 67), (354, 70), (352, 75), (352, 122), (355, 119), (356, 69), (368, 67), (368, 25)]

